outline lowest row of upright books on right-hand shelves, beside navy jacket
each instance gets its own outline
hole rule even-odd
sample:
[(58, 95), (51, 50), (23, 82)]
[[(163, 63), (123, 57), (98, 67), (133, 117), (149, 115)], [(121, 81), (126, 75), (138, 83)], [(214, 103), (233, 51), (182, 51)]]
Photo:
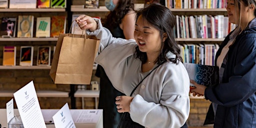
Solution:
[(218, 44), (178, 44), (183, 62), (214, 65)]

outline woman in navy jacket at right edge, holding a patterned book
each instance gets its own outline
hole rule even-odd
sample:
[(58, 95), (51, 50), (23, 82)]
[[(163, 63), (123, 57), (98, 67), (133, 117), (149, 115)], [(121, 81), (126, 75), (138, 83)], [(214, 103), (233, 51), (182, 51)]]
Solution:
[(226, 1), (228, 21), (237, 27), (216, 52), (219, 84), (206, 87), (191, 80), (196, 86), (191, 89), (193, 95), (204, 95), (212, 102), (205, 121), (214, 127), (256, 127), (255, 7), (255, 0)]

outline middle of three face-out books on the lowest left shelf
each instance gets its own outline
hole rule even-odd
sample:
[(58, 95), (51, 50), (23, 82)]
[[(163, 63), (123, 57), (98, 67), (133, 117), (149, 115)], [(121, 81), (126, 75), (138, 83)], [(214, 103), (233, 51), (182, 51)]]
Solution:
[(33, 46), (20, 46), (19, 65), (31, 66), (33, 63)]

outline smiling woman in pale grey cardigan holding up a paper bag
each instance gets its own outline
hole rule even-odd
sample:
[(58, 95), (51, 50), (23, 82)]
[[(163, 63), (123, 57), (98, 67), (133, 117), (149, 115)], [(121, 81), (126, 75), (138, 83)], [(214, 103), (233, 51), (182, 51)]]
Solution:
[(185, 124), (190, 108), (189, 77), (174, 39), (175, 16), (167, 7), (151, 3), (136, 12), (135, 40), (112, 37), (99, 19), (88, 15), (76, 21), (86, 34), (100, 39), (95, 62), (117, 90), (130, 95), (142, 81), (132, 96), (115, 98), (118, 112), (129, 112), (143, 127)]

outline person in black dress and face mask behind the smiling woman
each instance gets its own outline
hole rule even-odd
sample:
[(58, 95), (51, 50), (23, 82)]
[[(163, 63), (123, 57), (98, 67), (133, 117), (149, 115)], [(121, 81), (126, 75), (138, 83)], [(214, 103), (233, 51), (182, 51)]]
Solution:
[[(105, 0), (109, 11), (103, 26), (110, 30), (113, 37), (133, 38), (135, 11), (133, 0)], [(101, 65), (97, 66), (95, 75), (100, 78), (98, 108), (103, 109), (103, 127), (116, 128), (121, 114), (115, 107), (115, 97), (124, 95), (116, 90), (105, 74)]]

